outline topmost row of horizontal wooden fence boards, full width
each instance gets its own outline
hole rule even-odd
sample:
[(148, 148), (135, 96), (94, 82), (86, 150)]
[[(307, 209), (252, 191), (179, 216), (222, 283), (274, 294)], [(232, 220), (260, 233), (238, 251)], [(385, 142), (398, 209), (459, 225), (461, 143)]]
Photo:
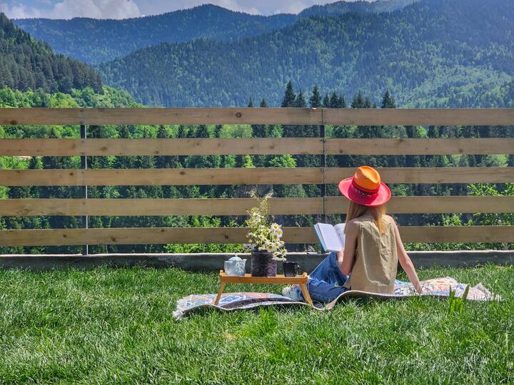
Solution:
[(0, 125), (513, 125), (514, 108), (0, 108)]

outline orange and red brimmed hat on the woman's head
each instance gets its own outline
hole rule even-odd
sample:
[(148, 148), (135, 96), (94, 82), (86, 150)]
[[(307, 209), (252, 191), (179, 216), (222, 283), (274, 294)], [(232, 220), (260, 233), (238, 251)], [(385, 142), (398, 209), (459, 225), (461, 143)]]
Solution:
[(390, 190), (381, 182), (377, 170), (369, 166), (357, 168), (351, 178), (341, 180), (339, 191), (353, 202), (364, 206), (380, 206), (390, 199)]

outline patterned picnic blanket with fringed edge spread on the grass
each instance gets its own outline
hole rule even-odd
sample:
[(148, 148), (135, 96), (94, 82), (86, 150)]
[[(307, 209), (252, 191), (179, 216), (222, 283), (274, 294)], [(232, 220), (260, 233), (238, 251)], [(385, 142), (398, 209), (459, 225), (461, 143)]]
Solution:
[[(374, 299), (405, 299), (413, 296), (430, 295), (435, 297), (448, 297), (450, 289), (455, 291), (455, 297), (462, 297), (467, 284), (459, 283), (452, 277), (441, 277), (427, 279), (422, 282), (423, 292), (417, 293), (410, 282), (402, 282), (395, 280), (395, 289), (393, 294), (379, 294), (371, 292), (361, 292), (358, 290), (349, 290), (328, 304), (314, 303), (313, 308), (323, 311), (332, 309), (338, 302), (348, 298), (374, 298)], [(224, 293), (221, 295), (218, 305), (214, 304), (217, 294), (191, 294), (187, 297), (178, 299), (176, 311), (173, 312), (175, 319), (181, 319), (186, 314), (191, 314), (200, 309), (213, 308), (223, 312), (229, 312), (238, 309), (251, 309), (259, 306), (308, 306), (306, 302), (296, 302), (289, 297), (273, 293), (256, 293), (256, 292), (237, 292)], [(493, 299), (501, 299), (498, 295), (493, 295), (482, 284), (477, 284), (469, 288), (467, 299), (472, 301), (491, 301)]]

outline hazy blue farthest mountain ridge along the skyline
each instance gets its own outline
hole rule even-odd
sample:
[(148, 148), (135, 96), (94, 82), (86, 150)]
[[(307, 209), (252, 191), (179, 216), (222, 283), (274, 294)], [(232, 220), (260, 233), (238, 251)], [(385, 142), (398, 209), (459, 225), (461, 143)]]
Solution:
[(198, 38), (236, 41), (266, 34), (295, 23), (298, 17), (342, 14), (349, 11), (377, 12), (398, 9), (414, 0), (339, 1), (313, 6), (300, 16), (278, 14), (258, 16), (206, 4), (192, 9), (125, 20), (76, 18), (71, 20), (19, 19), (16, 24), (37, 39), (50, 43), (56, 52), (87, 63), (102, 63), (155, 46)]

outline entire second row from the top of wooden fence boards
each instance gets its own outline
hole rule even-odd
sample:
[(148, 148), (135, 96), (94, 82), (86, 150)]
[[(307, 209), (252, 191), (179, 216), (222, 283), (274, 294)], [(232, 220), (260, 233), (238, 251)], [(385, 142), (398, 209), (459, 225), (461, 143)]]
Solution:
[[(514, 138), (327, 138), (327, 155), (512, 154)], [(322, 154), (322, 138), (0, 139), (0, 155)]]

